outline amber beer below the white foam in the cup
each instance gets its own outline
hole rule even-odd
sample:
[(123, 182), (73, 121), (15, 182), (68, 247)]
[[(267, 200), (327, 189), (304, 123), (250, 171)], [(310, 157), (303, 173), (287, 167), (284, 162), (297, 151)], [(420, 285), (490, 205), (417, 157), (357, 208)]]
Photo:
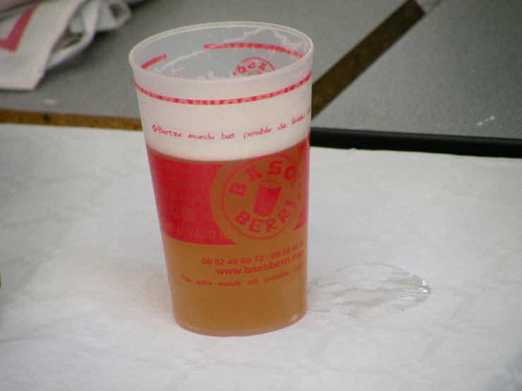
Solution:
[(309, 139), (246, 160), (148, 157), (177, 323), (231, 336), (302, 318)]

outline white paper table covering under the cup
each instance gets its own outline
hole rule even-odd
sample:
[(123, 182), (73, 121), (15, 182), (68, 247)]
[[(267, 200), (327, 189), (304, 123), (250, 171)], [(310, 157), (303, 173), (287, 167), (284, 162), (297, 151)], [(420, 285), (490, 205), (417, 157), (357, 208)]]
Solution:
[(266, 335), (179, 328), (141, 133), (0, 126), (0, 390), (522, 390), (522, 161), (312, 148), (309, 279), (432, 296)]

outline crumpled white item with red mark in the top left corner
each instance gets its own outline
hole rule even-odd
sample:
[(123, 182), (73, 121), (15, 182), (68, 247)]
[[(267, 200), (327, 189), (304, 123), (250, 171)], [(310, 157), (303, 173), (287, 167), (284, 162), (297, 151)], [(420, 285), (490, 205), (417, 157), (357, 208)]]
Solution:
[(9, 0), (0, 5), (0, 89), (32, 90), (47, 69), (83, 52), (96, 32), (131, 18), (125, 0)]

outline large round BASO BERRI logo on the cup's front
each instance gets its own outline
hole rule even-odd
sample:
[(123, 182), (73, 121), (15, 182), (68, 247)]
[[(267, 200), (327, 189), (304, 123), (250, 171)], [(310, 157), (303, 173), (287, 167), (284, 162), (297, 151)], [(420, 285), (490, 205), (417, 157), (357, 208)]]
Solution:
[(301, 196), (301, 174), (286, 155), (249, 160), (235, 169), (221, 189), (228, 222), (243, 236), (278, 236), (295, 220)]

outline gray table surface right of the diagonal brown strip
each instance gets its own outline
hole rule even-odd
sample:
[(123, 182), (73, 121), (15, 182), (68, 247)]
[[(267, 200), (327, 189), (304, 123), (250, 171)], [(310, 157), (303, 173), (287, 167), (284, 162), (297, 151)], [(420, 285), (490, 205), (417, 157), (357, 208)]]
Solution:
[(522, 139), (522, 1), (446, 0), (315, 126)]

